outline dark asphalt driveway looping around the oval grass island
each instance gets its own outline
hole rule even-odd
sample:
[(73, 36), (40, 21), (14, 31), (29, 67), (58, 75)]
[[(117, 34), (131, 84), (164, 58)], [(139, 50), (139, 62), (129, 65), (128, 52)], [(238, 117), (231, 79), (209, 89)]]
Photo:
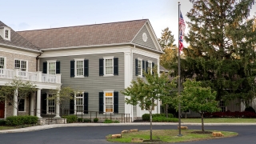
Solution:
[[(117, 134), (122, 130), (149, 130), (150, 126), (79, 126), (59, 127), (48, 130), (38, 130), (25, 133), (0, 134), (2, 144), (102, 144), (106, 142), (107, 134)], [(189, 129), (200, 130), (201, 126), (189, 126)], [(234, 138), (218, 138), (209, 141), (182, 142), (182, 144), (255, 144), (256, 126), (205, 126), (205, 130), (227, 130), (238, 132)], [(177, 129), (177, 126), (153, 126), (154, 130)], [(114, 143), (117, 144), (117, 143)]]

